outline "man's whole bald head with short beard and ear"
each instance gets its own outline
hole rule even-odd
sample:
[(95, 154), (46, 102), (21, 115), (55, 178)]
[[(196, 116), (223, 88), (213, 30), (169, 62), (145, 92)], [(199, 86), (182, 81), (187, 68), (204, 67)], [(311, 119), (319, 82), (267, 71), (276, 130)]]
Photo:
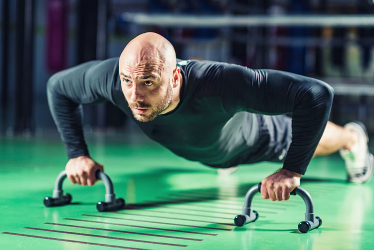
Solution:
[(178, 106), (182, 74), (176, 64), (173, 45), (159, 34), (144, 33), (126, 45), (118, 71), (122, 92), (136, 120), (152, 121)]

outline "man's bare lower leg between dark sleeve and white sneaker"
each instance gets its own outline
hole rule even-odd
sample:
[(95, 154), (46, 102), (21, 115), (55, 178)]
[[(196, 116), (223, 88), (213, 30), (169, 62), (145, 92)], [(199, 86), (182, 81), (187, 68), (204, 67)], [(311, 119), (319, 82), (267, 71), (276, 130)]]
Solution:
[(353, 130), (328, 121), (313, 157), (330, 155), (342, 148), (351, 150), (357, 140), (358, 135)]

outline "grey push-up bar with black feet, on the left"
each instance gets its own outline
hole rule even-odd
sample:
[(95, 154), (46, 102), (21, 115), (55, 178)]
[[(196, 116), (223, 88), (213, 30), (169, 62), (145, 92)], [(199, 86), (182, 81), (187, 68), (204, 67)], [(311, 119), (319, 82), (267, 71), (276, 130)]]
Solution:
[[(125, 207), (125, 200), (122, 198), (116, 199), (116, 195), (114, 194), (113, 183), (110, 180), (110, 178), (100, 170), (95, 172), (95, 176), (96, 179), (102, 180), (105, 186), (105, 202), (98, 202), (96, 204), (96, 209), (99, 212), (116, 211), (123, 209)], [(63, 170), (61, 173), (58, 174), (56, 178), (52, 197), (44, 198), (44, 205), (46, 207), (64, 206), (71, 202), (71, 195), (63, 194), (62, 191), (62, 182), (65, 178), (66, 172), (65, 170)]]

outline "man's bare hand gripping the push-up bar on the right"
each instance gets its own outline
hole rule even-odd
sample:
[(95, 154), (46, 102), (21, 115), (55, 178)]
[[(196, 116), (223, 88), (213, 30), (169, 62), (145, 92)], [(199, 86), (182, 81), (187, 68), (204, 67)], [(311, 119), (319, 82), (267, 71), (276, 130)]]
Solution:
[(280, 169), (261, 182), (261, 196), (271, 201), (282, 201), (290, 198), (290, 193), (300, 186), (301, 174)]

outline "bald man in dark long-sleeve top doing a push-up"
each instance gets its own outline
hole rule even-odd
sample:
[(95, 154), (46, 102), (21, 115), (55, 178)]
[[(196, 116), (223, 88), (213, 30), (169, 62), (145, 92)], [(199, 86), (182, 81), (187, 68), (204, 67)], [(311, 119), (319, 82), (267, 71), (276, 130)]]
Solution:
[(151, 139), (189, 160), (216, 168), (283, 162), (282, 169), (262, 180), (264, 199), (288, 200), (312, 157), (338, 150), (349, 181), (362, 183), (373, 175), (365, 126), (327, 121), (334, 91), (325, 82), (221, 62), (177, 63), (173, 45), (156, 33), (135, 37), (120, 58), (55, 74), (47, 93), (73, 184), (92, 186), (95, 171), (103, 171), (89, 156), (80, 104), (104, 101), (118, 106)]

